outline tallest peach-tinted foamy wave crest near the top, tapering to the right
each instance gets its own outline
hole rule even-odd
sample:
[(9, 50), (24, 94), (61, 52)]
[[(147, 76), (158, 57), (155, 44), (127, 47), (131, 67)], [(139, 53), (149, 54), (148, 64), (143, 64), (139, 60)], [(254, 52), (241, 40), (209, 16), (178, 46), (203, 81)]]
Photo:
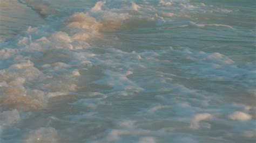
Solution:
[[(71, 27), (79, 27), (89, 30), (89, 35), (97, 32), (113, 32), (130, 26), (152, 24), (153, 17), (130, 15), (125, 10), (101, 10), (105, 2), (97, 2), (92, 11), (95, 13), (75, 13), (66, 24)], [(140, 6), (132, 2), (131, 9), (138, 11)], [(97, 17), (93, 17), (97, 16)], [(97, 18), (97, 20), (96, 20)], [(87, 39), (87, 38), (86, 38)]]

